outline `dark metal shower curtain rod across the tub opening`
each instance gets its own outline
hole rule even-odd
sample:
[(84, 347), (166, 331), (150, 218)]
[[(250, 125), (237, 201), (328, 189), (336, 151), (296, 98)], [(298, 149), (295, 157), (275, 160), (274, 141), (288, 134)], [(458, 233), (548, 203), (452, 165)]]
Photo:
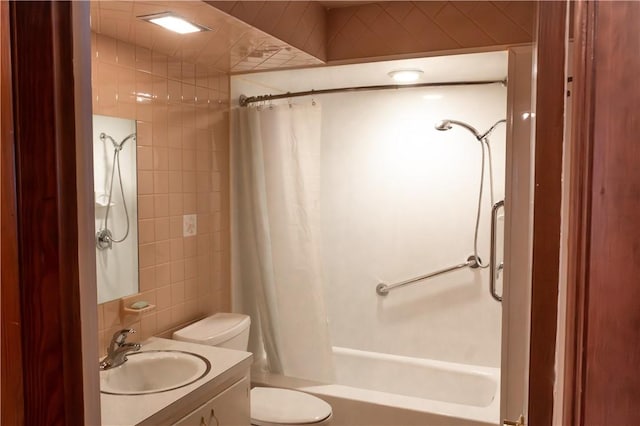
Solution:
[(500, 83), (503, 86), (507, 85), (507, 79), (503, 80), (482, 80), (482, 81), (448, 81), (439, 83), (416, 83), (416, 84), (383, 84), (379, 86), (356, 86), (356, 87), (339, 87), (335, 89), (320, 89), (320, 90), (307, 90), (304, 92), (287, 92), (278, 95), (260, 95), (260, 96), (245, 96), (240, 95), (240, 106), (246, 107), (249, 104), (255, 102), (271, 101), (274, 99), (287, 99), (296, 98), (298, 96), (313, 96), (324, 95), (327, 93), (339, 93), (339, 92), (364, 92), (372, 90), (390, 90), (390, 89), (409, 89), (417, 87), (441, 87), (441, 86), (476, 86), (481, 84), (497, 84)]

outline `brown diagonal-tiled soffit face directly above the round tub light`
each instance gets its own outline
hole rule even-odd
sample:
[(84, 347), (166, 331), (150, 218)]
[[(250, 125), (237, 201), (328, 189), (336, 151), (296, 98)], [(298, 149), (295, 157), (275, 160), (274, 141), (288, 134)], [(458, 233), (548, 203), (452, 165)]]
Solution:
[(330, 9), (328, 61), (532, 41), (529, 1), (393, 1)]

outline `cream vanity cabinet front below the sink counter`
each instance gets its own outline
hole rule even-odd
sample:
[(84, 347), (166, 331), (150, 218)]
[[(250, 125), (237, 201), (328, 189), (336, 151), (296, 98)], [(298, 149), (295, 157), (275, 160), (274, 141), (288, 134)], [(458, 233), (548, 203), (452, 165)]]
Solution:
[(248, 426), (249, 377), (244, 377), (224, 392), (178, 420), (176, 426)]

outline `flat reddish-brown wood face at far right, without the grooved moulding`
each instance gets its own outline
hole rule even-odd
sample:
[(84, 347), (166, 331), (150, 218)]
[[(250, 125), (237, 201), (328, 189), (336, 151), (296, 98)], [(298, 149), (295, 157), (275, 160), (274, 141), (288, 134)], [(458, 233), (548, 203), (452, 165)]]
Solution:
[(624, 425), (637, 423), (640, 404), (640, 3), (602, 2), (594, 12), (581, 423)]

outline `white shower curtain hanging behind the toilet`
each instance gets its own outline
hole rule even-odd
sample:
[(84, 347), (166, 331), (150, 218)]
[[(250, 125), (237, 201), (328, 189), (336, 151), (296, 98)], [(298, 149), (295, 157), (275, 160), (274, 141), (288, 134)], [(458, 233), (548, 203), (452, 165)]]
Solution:
[(252, 317), (258, 362), (272, 373), (331, 382), (319, 255), (320, 120), (318, 104), (237, 110), (233, 280)]

